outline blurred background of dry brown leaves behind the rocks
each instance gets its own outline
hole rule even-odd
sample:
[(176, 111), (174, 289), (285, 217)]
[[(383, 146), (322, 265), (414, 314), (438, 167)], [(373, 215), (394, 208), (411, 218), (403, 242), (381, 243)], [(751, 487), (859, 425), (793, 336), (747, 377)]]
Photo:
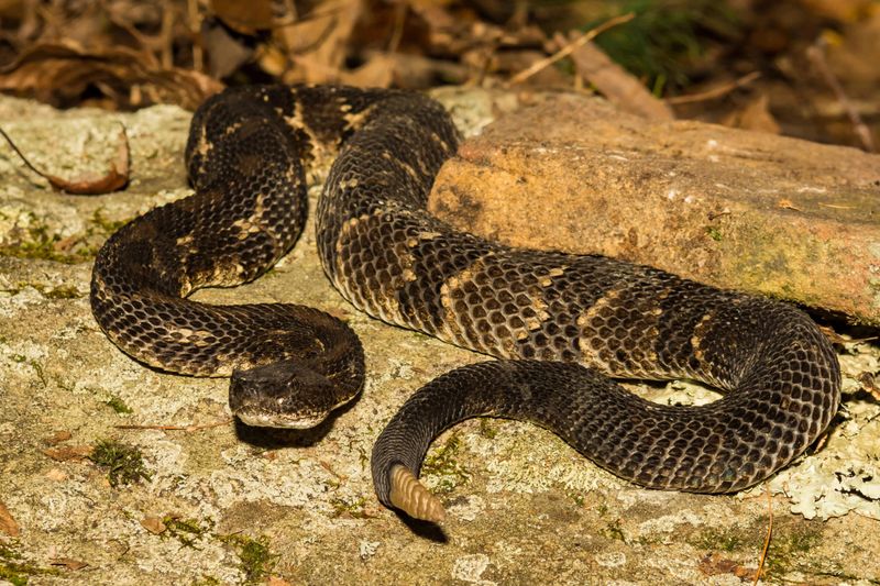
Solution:
[(0, 0), (0, 91), (194, 109), (228, 85), (597, 92), (876, 152), (878, 0)]

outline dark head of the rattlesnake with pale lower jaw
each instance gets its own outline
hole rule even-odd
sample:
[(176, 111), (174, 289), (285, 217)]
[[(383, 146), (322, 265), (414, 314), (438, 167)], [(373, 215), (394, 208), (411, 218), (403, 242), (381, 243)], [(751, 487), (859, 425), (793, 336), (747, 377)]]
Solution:
[(314, 428), (339, 407), (336, 385), (301, 362), (280, 361), (233, 371), (229, 406), (248, 425)]

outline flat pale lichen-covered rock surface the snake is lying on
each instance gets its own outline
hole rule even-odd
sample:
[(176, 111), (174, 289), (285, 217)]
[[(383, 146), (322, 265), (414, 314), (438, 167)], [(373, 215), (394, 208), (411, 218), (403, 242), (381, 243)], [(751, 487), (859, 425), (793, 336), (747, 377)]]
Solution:
[[(471, 131), (517, 102), (440, 96)], [(100, 172), (118, 121), (133, 157), (124, 192), (55, 194), (0, 151), (0, 505), (20, 533), (0, 508), (0, 584), (244, 584), (264, 570), (274, 584), (738, 585), (757, 566), (770, 506), (770, 582), (880, 576), (880, 408), (856, 380), (880, 371), (867, 343), (842, 349), (847, 412), (824, 449), (766, 486), (737, 496), (645, 490), (543, 430), (470, 421), (440, 438), (425, 469), (447, 523), (410, 526), (373, 495), (373, 440), (416, 388), (484, 358), (353, 310), (324, 278), (309, 228), (256, 283), (197, 297), (297, 301), (345, 317), (364, 341), (366, 388), (312, 432), (237, 428), (226, 380), (143, 367), (89, 311), (97, 246), (119, 222), (188, 194), (189, 114), (56, 112), (0, 99), (0, 124), (56, 175)], [(632, 388), (663, 402), (713, 397), (681, 383)], [(101, 439), (140, 450), (148, 478), (111, 486), (82, 458)]]

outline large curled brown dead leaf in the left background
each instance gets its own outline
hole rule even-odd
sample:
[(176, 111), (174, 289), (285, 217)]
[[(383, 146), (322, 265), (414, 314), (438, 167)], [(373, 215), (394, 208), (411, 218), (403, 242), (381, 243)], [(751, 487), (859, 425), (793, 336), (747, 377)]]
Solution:
[(163, 68), (148, 53), (122, 46), (86, 51), (69, 42), (42, 43), (0, 68), (0, 90), (58, 107), (78, 104), (98, 88), (117, 108), (176, 103), (193, 110), (222, 87), (204, 74)]

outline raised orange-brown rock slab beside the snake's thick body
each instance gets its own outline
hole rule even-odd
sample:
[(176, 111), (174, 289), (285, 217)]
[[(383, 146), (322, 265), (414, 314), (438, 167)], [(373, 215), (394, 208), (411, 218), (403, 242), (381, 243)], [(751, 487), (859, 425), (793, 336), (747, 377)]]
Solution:
[(880, 325), (880, 156), (552, 96), (443, 167), (432, 211)]

